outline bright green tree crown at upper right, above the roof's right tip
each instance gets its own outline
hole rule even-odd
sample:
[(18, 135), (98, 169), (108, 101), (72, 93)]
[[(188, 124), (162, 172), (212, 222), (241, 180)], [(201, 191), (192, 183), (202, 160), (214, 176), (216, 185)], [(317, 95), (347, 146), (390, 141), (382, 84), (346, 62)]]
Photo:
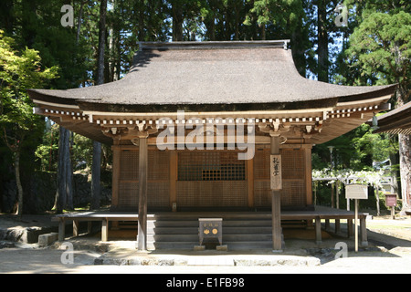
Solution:
[(411, 77), (411, 15), (364, 12), (364, 20), (350, 38), (349, 56), (362, 75), (376, 84), (401, 83)]

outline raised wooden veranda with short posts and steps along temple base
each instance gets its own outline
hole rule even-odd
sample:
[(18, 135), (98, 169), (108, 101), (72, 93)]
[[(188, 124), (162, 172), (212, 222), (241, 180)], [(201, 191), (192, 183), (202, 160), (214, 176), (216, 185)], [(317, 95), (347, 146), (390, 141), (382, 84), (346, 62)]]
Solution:
[[(361, 231), (361, 245), (368, 245), (367, 242), (367, 229), (366, 229), (366, 213), (360, 213), (360, 231)], [(252, 233), (255, 235), (260, 231), (263, 232), (263, 229), (271, 229), (272, 214), (271, 212), (158, 212), (158, 213), (149, 213), (147, 214), (147, 226), (148, 226), (148, 235), (150, 233), (155, 237), (156, 228), (155, 223), (161, 221), (173, 221), (173, 226), (175, 228), (191, 228), (193, 230), (192, 240), (198, 235), (198, 218), (222, 218), (223, 226), (226, 222), (236, 221), (237, 225), (253, 225), (256, 221), (264, 222), (261, 226), (253, 225)], [(73, 235), (79, 236), (79, 222), (101, 222), (101, 241), (109, 241), (109, 233), (111, 225), (115, 226), (114, 229), (118, 229), (119, 222), (136, 222), (138, 223), (139, 214), (132, 212), (81, 212), (81, 213), (71, 213), (71, 214), (58, 214), (53, 217), (53, 221), (58, 221), (58, 240), (64, 241), (69, 235), (66, 234), (66, 225), (73, 224)], [(353, 219), (354, 213), (351, 211), (345, 211), (340, 209), (333, 209), (328, 207), (316, 207), (316, 210), (312, 211), (283, 211), (281, 212), (281, 225), (286, 226), (288, 222), (304, 221), (305, 227), (300, 227), (304, 229), (312, 229), (312, 232), (315, 233), (315, 242), (321, 244), (321, 220), (325, 220), (324, 227), (326, 228), (330, 220), (335, 220), (335, 233), (340, 232), (340, 222), (341, 220), (346, 220), (347, 223), (347, 237), (353, 236)], [(191, 226), (184, 225), (187, 221), (191, 220)], [(110, 224), (112, 223), (112, 224)], [(116, 224), (113, 224), (116, 223)], [(310, 228), (311, 223), (314, 223), (314, 228)], [(228, 224), (229, 225), (229, 224)], [(150, 226), (153, 228), (150, 231)], [(157, 225), (157, 229), (161, 227), (161, 224)], [(258, 230), (259, 228), (259, 230)], [(282, 227), (284, 228), (284, 227)], [(287, 228), (287, 227), (285, 227)], [(241, 233), (241, 231), (239, 231)], [(247, 232), (247, 231), (246, 231)], [(163, 233), (160, 233), (163, 235)], [(171, 231), (171, 234), (175, 234), (175, 231)], [(186, 233), (185, 233), (186, 235)], [(196, 240), (196, 239), (195, 239)], [(195, 245), (195, 240), (193, 245)], [(223, 242), (226, 242), (226, 238), (223, 234)], [(254, 246), (257, 245), (257, 246)], [(152, 245), (153, 246), (153, 245)], [(243, 249), (254, 249), (258, 248), (261, 245), (256, 244), (256, 242), (246, 242), (244, 245), (241, 245)], [(230, 246), (228, 246), (230, 248)]]

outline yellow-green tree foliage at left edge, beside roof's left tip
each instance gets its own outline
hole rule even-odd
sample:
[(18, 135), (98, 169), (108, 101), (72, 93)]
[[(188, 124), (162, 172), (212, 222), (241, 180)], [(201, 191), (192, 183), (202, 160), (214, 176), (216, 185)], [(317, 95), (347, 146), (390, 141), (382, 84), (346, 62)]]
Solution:
[(33, 113), (26, 89), (41, 88), (57, 77), (57, 68), (41, 69), (40, 57), (34, 49), (21, 53), (13, 47), (13, 38), (0, 30), (0, 136), (11, 151), (20, 151), (26, 136), (41, 129), (43, 119)]

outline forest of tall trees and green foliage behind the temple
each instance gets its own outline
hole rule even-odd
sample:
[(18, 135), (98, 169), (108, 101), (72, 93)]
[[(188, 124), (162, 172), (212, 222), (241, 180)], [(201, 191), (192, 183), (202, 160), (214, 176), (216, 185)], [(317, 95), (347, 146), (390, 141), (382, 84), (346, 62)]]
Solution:
[[(65, 26), (70, 19), (63, 5), (73, 7), (72, 26)], [(2, 0), (0, 213), (44, 211), (30, 192), (38, 172), (59, 174), (56, 198), (47, 207), (57, 212), (104, 203), (97, 188), (90, 191), (90, 202), (75, 205), (69, 183), (73, 172), (89, 180), (94, 175), (98, 185), (111, 188), (110, 146), (93, 145), (34, 115), (26, 89), (118, 80), (131, 67), (140, 41), (290, 39), (301, 76), (350, 86), (397, 83), (390, 100), (396, 108), (409, 101), (410, 13), (408, 0)], [(411, 181), (409, 149), (409, 136), (374, 134), (364, 124), (314, 146), (312, 167), (326, 176), (342, 170), (375, 172), (375, 162), (385, 162), (401, 197), (410, 193), (400, 180), (402, 172), (403, 180)], [(91, 175), (93, 164), (101, 182)], [(10, 183), (16, 184), (12, 206), (5, 203), (4, 186)], [(316, 203), (330, 205), (331, 186), (320, 184)]]

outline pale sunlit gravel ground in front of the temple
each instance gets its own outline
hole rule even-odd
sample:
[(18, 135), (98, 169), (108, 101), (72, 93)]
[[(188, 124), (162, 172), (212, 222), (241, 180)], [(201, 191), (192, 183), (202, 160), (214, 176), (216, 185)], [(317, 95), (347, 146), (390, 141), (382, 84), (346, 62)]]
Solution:
[[(13, 217), (0, 215), (0, 228), (10, 228), (10, 224), (33, 227), (34, 224), (42, 225), (43, 219), (49, 224), (46, 218), (39, 217), (24, 218), (22, 223), (16, 224)], [(82, 248), (77, 250), (75, 247), (72, 264), (68, 265), (62, 263), (62, 258), (67, 258), (68, 254), (58, 249), (58, 245), (39, 248), (37, 244), (3, 241), (3, 248), (0, 243), (0, 273), (411, 274), (411, 218), (374, 217), (374, 220), (367, 220), (367, 227), (369, 246), (360, 248), (358, 253), (353, 251), (353, 238), (339, 236), (323, 239), (322, 245), (315, 245), (311, 240), (286, 239), (286, 248), (280, 254), (268, 250), (137, 253), (130, 241), (111, 242), (110, 248), (96, 250), (97, 239), (93, 237), (72, 241), (74, 245), (82, 241)], [(348, 246), (345, 257), (335, 258), (339, 249), (334, 246), (338, 242)]]

